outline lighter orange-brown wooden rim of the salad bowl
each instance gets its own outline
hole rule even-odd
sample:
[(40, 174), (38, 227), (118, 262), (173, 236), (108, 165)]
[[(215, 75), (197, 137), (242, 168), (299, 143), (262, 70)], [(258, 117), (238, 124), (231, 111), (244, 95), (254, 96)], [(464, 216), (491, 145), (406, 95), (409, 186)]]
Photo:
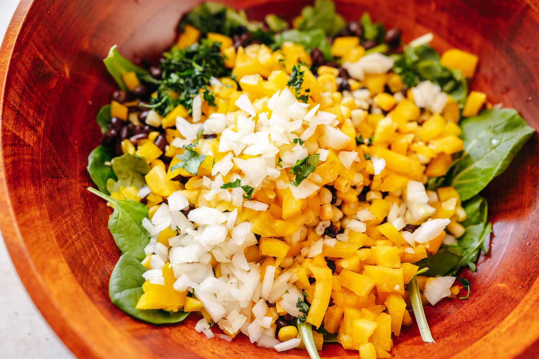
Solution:
[[(524, 0), (524, 2), (531, 5), (529, 0)], [(37, 1), (35, 0), (19, 1), (9, 22), (8, 29), (6, 29), (3, 41), (0, 44), (0, 129), (3, 124), (4, 94), (8, 71), (13, 57), (13, 48), (15, 48), (19, 33), (25, 25), (27, 15), (36, 3)], [(73, 355), (84, 358), (102, 359), (101, 353), (96, 348), (95, 343), (87, 340), (85, 335), (81, 335), (82, 333), (73, 322), (68, 320), (68, 316), (63, 308), (48, 294), (48, 287), (33, 264), (26, 249), (24, 238), (20, 233), (17, 218), (11, 205), (4, 168), (3, 141), (0, 133), (0, 229), (17, 275), (24, 284), (25, 290), (30, 295), (34, 305), (36, 305), (48, 325), (54, 330), (64, 345), (70, 349)], [(13, 261), (13, 258), (17, 258), (17, 261)], [(471, 352), (469, 354), (478, 353), (479, 350), (483, 350), (483, 354), (487, 356), (501, 354), (496, 349), (493, 350), (493, 348), (490, 348), (488, 350), (488, 348), (483, 346), (488, 343), (493, 344), (496, 341), (496, 334), (502, 336), (508, 333), (507, 330), (510, 330), (509, 327), (515, 325), (515, 321), (523, 320), (526, 323), (539, 323), (539, 311), (534, 311), (534, 303), (539, 303), (539, 277), (511, 312), (511, 314), (520, 312), (520, 315), (516, 315), (516, 318), (513, 317), (511, 319), (509, 319), (510, 315), (508, 315), (499, 325), (495, 326), (485, 335), (481, 341), (474, 342), (465, 350), (469, 350)], [(520, 354), (515, 355), (515, 357), (528, 358), (539, 355), (539, 334), (534, 334), (533, 330), (530, 330), (525, 336), (526, 339), (524, 339), (524, 336), (521, 337)], [(465, 350), (456, 353), (454, 357), (465, 354)]]

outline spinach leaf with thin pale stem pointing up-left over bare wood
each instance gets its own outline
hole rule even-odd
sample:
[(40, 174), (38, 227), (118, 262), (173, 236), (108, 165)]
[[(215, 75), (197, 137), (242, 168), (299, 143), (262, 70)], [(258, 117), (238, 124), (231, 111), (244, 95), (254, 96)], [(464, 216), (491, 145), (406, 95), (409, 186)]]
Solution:
[(116, 245), (122, 253), (131, 252), (142, 261), (146, 257), (144, 247), (150, 242), (148, 232), (142, 227), (142, 220), (148, 217), (148, 207), (133, 200), (115, 200), (92, 187), (88, 187), (88, 191), (113, 205), (114, 212), (108, 220), (108, 229)]

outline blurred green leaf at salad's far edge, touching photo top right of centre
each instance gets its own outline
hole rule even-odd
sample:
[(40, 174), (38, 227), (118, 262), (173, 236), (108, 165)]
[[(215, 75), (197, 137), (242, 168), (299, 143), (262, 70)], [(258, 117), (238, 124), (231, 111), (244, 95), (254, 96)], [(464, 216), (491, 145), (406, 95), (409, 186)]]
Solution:
[(322, 29), (329, 36), (335, 36), (346, 25), (330, 0), (316, 0), (314, 6), (305, 6), (301, 18), (300, 31)]

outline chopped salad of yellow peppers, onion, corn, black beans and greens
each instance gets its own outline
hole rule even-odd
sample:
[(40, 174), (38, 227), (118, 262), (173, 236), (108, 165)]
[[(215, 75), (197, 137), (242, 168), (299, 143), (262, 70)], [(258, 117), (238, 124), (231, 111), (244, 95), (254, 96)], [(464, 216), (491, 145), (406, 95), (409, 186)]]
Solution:
[(88, 190), (113, 208), (113, 304), (312, 358), (390, 357), (412, 325), (434, 342), (423, 306), (473, 296), (479, 193), (533, 133), (468, 90), (478, 58), (328, 0), (291, 24), (208, 2), (179, 29), (158, 64), (103, 60), (119, 89)]

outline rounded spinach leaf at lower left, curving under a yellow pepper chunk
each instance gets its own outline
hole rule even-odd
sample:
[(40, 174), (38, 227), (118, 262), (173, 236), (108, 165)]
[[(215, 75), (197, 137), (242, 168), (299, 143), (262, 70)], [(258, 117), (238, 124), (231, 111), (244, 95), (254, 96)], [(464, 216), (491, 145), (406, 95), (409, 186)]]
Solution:
[(147, 269), (131, 252), (125, 252), (114, 267), (108, 282), (110, 301), (123, 312), (136, 319), (153, 324), (177, 323), (189, 312), (167, 312), (162, 309), (137, 309), (136, 304), (144, 293), (142, 273)]

